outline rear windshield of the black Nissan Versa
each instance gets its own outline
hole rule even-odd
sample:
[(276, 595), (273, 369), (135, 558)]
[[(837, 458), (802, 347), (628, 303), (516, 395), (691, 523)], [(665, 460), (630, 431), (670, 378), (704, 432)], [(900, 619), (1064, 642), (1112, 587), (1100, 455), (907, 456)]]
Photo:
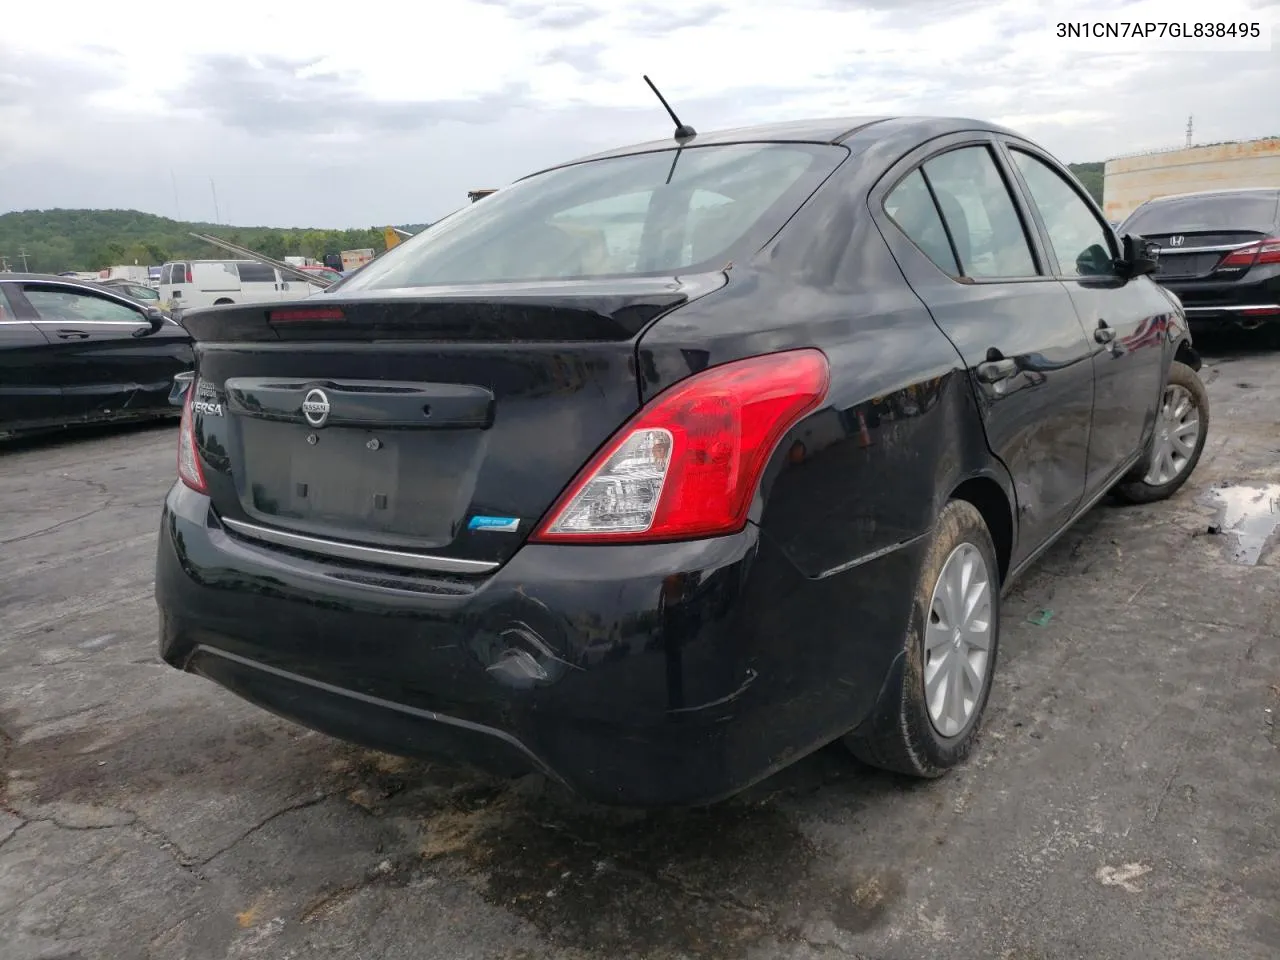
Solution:
[(343, 289), (718, 269), (763, 246), (845, 156), (827, 145), (735, 143), (564, 166), (449, 215)]

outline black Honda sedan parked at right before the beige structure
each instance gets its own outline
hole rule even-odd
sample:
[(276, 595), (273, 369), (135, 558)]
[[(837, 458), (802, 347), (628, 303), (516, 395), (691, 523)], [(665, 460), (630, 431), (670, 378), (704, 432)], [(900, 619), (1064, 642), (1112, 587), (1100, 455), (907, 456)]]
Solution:
[(1280, 188), (1148, 200), (1121, 229), (1160, 244), (1156, 280), (1193, 332), (1280, 323)]

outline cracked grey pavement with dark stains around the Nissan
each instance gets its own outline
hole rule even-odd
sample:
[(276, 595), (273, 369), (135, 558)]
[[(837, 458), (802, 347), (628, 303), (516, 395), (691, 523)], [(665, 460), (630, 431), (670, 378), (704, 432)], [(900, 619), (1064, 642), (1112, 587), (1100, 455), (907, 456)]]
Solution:
[(10, 444), (0, 955), (1275, 957), (1280, 548), (1233, 561), (1202, 500), (1280, 481), (1280, 355), (1211, 365), (1192, 484), (1094, 509), (1007, 600), (964, 769), (832, 748), (689, 813), (372, 754), (169, 669), (173, 428)]

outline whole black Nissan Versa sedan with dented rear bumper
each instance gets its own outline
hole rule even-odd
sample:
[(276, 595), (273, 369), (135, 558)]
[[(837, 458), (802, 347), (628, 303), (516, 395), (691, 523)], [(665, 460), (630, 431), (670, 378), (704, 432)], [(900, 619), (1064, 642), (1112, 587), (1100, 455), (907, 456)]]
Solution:
[(969, 753), (1000, 596), (1208, 407), (1149, 250), (1016, 134), (845, 119), (529, 177), (323, 305), (192, 311), (160, 650), (625, 804)]

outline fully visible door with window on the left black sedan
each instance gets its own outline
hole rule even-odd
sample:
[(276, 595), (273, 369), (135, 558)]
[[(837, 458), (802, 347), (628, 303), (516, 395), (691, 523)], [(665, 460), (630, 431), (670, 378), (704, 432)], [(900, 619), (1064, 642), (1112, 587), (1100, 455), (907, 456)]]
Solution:
[(49, 340), (69, 419), (118, 413), (131, 404), (150, 358), (141, 305), (54, 282), (13, 284), (15, 308)]

